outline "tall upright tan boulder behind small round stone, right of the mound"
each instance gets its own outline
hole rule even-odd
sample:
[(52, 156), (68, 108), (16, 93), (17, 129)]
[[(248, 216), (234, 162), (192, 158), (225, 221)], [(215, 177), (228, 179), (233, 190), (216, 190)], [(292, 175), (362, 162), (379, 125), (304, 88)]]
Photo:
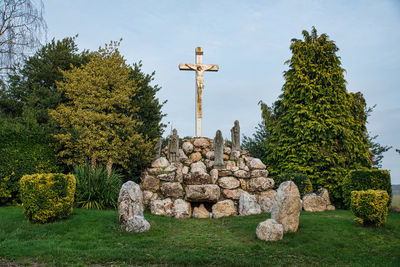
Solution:
[(282, 224), (284, 233), (296, 232), (299, 227), (300, 211), (300, 192), (296, 184), (292, 181), (281, 183), (276, 192), (271, 219)]

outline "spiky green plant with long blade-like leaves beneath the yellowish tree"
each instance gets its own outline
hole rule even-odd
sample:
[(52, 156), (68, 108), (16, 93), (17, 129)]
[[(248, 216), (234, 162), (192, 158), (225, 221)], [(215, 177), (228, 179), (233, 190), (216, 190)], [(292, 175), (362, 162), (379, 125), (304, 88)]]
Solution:
[(107, 177), (104, 167), (77, 166), (75, 203), (86, 209), (106, 209), (118, 206), (119, 190), (122, 186), (122, 175), (111, 171)]

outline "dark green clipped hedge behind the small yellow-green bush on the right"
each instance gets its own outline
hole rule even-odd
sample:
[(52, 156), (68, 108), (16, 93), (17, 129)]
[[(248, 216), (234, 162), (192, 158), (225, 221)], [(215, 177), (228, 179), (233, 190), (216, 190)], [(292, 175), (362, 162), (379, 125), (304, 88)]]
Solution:
[(352, 191), (385, 190), (389, 195), (388, 206), (392, 203), (392, 185), (387, 170), (361, 169), (350, 171), (343, 181), (343, 199), (346, 207), (350, 207)]

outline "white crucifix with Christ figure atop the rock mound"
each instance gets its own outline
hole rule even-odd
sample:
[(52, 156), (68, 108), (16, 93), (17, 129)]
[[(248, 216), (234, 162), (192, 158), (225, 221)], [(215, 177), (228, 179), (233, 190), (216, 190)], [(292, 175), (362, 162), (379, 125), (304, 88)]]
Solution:
[(196, 71), (196, 137), (201, 137), (201, 119), (202, 119), (202, 92), (204, 88), (203, 74), (205, 71), (218, 71), (218, 65), (202, 64), (203, 50), (196, 47), (196, 63), (179, 64), (180, 70)]

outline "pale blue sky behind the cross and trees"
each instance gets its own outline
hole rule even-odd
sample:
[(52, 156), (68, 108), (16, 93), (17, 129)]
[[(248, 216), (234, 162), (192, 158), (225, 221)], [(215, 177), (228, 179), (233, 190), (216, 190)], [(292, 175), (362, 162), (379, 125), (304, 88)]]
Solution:
[[(229, 138), (236, 119), (250, 135), (261, 119), (257, 103), (271, 104), (281, 93), (290, 40), (315, 26), (339, 47), (347, 89), (377, 105), (369, 131), (381, 144), (400, 148), (400, 1), (44, 0), (44, 5), (49, 39), (79, 34), (79, 48), (96, 50), (122, 37), (128, 63), (142, 60), (145, 72), (156, 71), (158, 97), (168, 99), (165, 121), (180, 136), (194, 135), (195, 81), (178, 64), (193, 63), (196, 46), (203, 47), (203, 63), (220, 67), (205, 73), (203, 135), (214, 137), (220, 129)], [(400, 184), (394, 149), (385, 153), (383, 167)]]

